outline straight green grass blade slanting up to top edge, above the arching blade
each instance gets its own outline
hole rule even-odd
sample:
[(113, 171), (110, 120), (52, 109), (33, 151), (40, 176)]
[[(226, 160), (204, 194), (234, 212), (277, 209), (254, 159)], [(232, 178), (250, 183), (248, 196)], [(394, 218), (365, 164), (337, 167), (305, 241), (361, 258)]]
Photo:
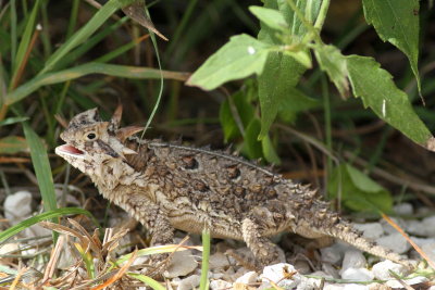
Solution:
[(110, 0), (90, 18), (85, 26), (75, 33), (63, 46), (61, 46), (48, 60), (44, 70), (38, 74), (42, 75), (51, 71), (54, 65), (62, 60), (66, 53), (86, 41), (105, 21), (115, 13), (120, 8), (124, 7), (125, 1)]

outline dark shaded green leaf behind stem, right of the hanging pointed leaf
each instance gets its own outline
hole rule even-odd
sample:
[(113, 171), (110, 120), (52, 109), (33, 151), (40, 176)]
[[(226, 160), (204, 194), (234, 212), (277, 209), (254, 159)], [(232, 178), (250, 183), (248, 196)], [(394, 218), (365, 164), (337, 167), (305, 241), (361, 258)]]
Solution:
[(321, 102), (308, 97), (296, 88), (289, 90), (289, 94), (284, 98), (279, 105), (278, 117), (287, 123), (295, 123), (296, 116), (300, 112), (319, 108)]

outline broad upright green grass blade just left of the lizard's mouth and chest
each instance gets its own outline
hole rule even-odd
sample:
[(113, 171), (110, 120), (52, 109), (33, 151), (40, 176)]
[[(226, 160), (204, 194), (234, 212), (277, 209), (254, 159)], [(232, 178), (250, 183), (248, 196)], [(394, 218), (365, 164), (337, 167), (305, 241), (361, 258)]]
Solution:
[(23, 123), (24, 135), (30, 148), (32, 163), (38, 179), (39, 190), (42, 196), (44, 209), (46, 211), (55, 210), (55, 193), (51, 167), (48, 161), (47, 150), (38, 135), (32, 129), (28, 123)]

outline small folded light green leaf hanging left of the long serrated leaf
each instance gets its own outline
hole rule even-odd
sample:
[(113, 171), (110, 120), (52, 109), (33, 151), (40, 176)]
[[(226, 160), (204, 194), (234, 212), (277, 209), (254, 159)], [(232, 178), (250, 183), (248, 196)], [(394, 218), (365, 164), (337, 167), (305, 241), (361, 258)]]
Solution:
[(341, 97), (346, 97), (349, 90), (346, 58), (336, 47), (325, 45), (315, 46), (314, 54), (320, 64), (320, 68), (326, 72)]

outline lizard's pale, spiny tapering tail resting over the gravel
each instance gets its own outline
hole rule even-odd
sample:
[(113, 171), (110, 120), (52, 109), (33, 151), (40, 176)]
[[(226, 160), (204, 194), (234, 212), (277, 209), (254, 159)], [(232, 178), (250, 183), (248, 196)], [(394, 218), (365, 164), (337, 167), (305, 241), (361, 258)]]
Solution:
[(350, 243), (351, 245), (368, 252), (372, 255), (384, 257), (393, 262), (399, 263), (408, 268), (413, 268), (411, 261), (402, 259), (399, 254), (390, 249), (377, 244), (375, 241), (364, 238), (362, 231), (357, 230), (348, 223), (339, 223), (325, 232), (336, 239)]

